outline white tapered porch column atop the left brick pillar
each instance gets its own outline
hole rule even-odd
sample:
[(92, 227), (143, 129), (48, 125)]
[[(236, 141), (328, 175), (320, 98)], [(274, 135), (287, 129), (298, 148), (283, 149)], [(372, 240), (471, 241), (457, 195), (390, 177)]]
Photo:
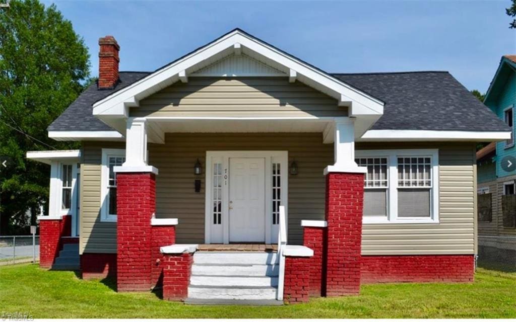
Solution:
[(147, 119), (144, 117), (127, 118), (125, 134), (125, 162), (115, 167), (115, 172), (152, 172), (157, 168), (148, 165), (147, 160)]

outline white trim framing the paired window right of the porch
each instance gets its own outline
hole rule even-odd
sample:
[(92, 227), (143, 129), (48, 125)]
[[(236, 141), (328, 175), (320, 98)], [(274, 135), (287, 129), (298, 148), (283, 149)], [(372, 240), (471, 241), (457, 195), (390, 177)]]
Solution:
[[(430, 217), (398, 217), (398, 157), (430, 157), (432, 187)], [(401, 150), (356, 150), (355, 158), (388, 158), (389, 189), (387, 191), (387, 216), (363, 217), (364, 224), (438, 224), (439, 223), (439, 150), (438, 149), (401, 149)]]

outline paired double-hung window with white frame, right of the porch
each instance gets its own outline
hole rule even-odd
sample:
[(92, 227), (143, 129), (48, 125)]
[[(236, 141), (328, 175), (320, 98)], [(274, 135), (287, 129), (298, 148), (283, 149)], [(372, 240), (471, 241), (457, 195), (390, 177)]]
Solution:
[(358, 150), (364, 177), (364, 223), (437, 223), (437, 149)]

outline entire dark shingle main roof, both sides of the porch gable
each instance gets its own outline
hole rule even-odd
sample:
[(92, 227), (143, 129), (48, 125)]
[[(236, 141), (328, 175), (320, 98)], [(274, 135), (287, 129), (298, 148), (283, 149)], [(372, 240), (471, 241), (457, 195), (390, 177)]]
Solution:
[[(113, 90), (88, 87), (48, 128), (51, 131), (112, 130), (92, 115), (92, 105), (149, 75), (120, 72)], [(372, 129), (506, 131), (506, 125), (447, 72), (332, 74), (385, 102)]]

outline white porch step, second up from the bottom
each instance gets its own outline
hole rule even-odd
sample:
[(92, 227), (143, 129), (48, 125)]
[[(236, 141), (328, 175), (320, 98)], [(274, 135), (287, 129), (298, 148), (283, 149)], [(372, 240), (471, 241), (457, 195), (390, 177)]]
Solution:
[(268, 276), (191, 276), (190, 285), (196, 286), (278, 286), (277, 277)]

